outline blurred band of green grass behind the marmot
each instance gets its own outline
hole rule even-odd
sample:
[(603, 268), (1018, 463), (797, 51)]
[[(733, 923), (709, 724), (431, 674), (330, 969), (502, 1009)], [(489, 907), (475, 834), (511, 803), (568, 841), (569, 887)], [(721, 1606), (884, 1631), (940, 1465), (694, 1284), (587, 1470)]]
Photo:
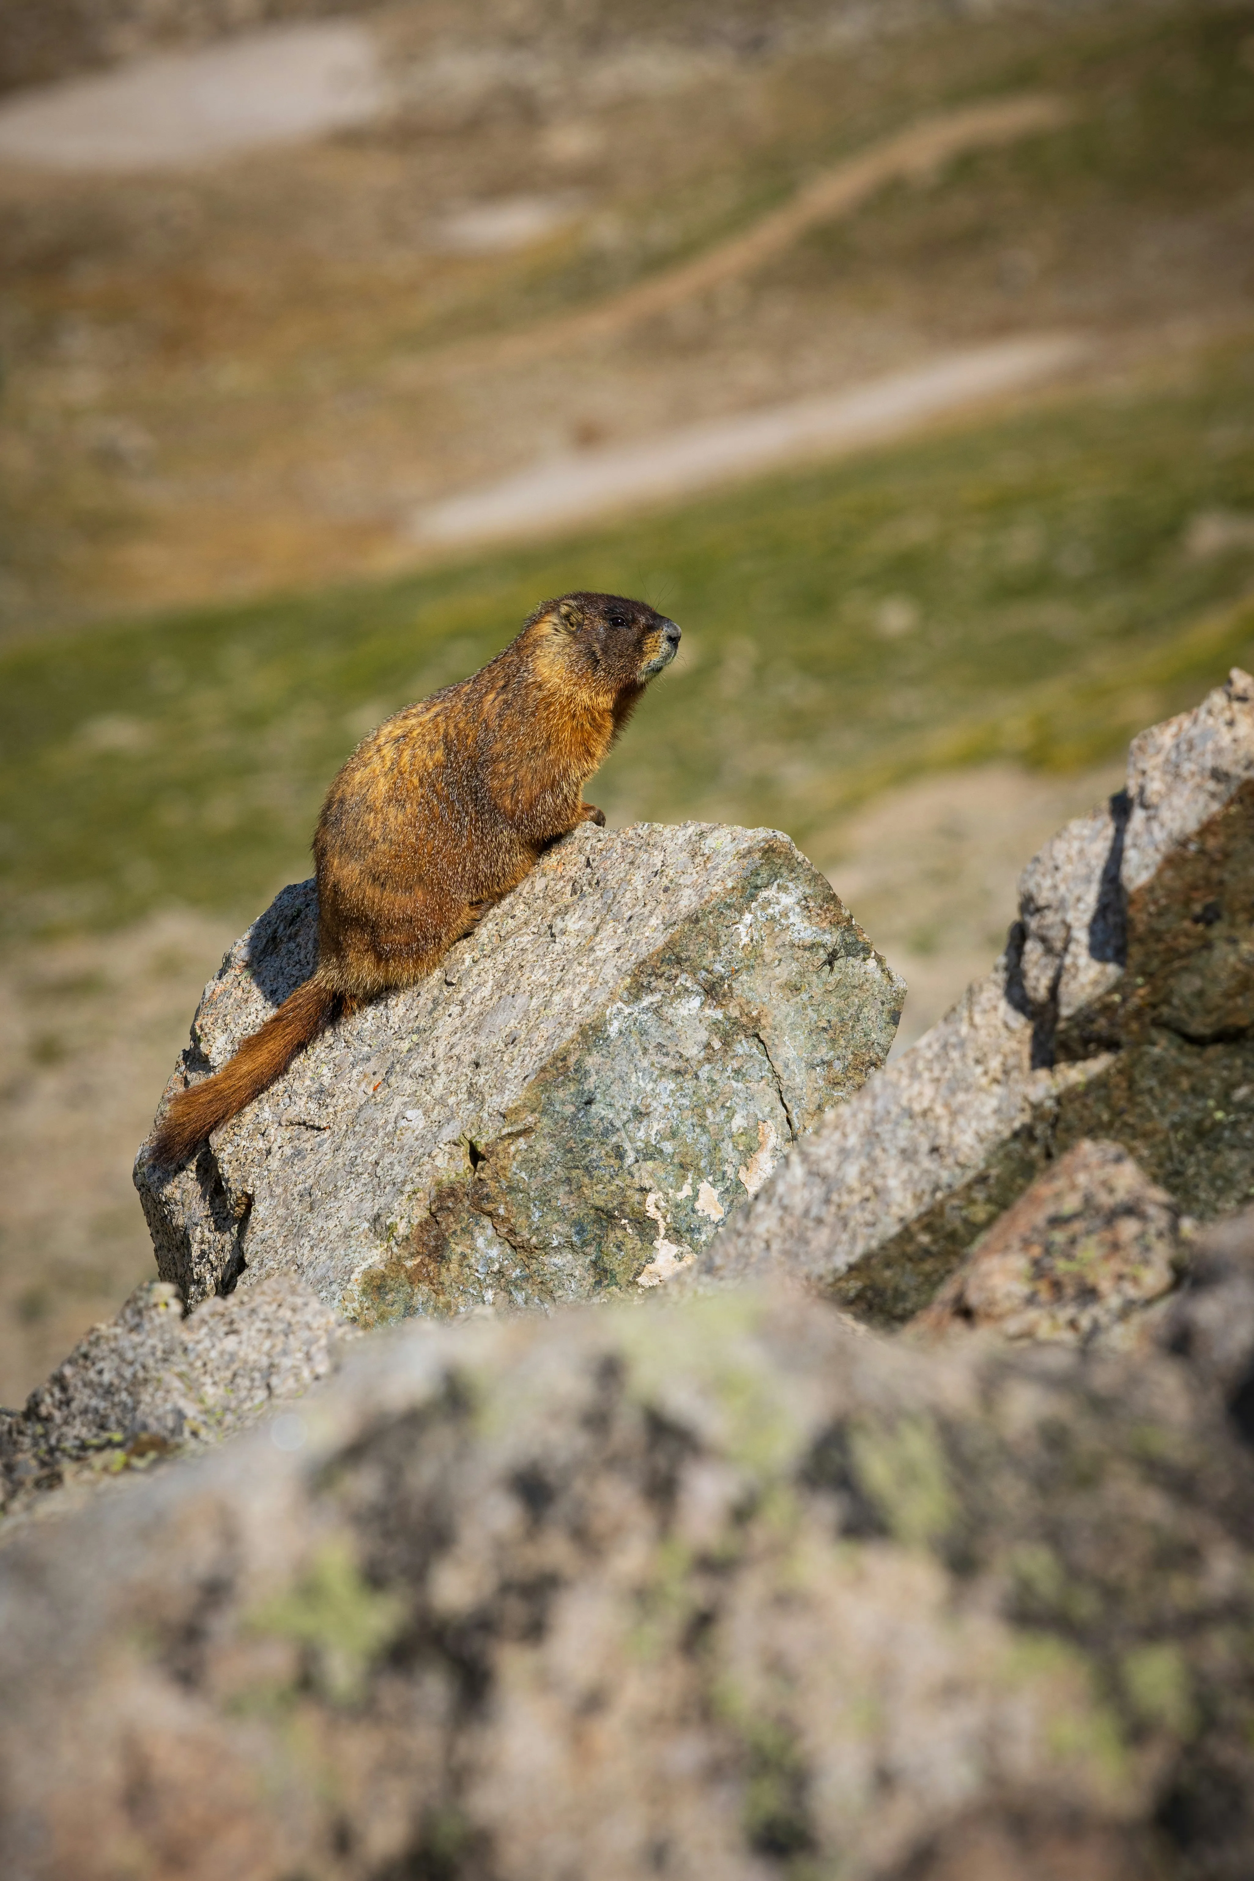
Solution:
[(767, 822), (825, 856), (923, 769), (1096, 762), (1254, 664), (1254, 549), (1190, 553), (1209, 510), (1254, 514), (1252, 350), (562, 544), (9, 651), (8, 929), (250, 912), (308, 871), (361, 732), (570, 587), (686, 634), (588, 792), (611, 820)]

